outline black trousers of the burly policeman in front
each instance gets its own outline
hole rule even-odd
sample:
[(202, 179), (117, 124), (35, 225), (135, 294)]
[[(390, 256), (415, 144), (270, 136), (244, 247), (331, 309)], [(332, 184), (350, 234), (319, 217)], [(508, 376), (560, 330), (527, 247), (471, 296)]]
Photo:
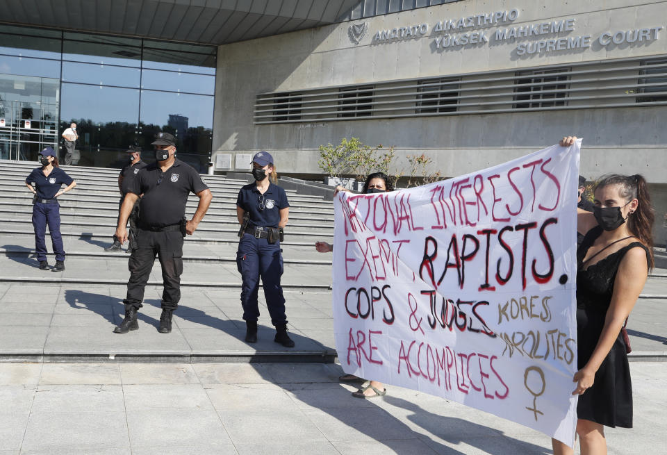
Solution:
[(164, 290), (162, 308), (175, 310), (181, 300), (181, 274), (183, 273), (183, 235), (180, 231), (144, 231), (135, 229), (135, 244), (128, 261), (130, 281), (127, 282), (125, 308), (142, 307), (144, 288), (148, 283), (155, 256), (162, 266)]

